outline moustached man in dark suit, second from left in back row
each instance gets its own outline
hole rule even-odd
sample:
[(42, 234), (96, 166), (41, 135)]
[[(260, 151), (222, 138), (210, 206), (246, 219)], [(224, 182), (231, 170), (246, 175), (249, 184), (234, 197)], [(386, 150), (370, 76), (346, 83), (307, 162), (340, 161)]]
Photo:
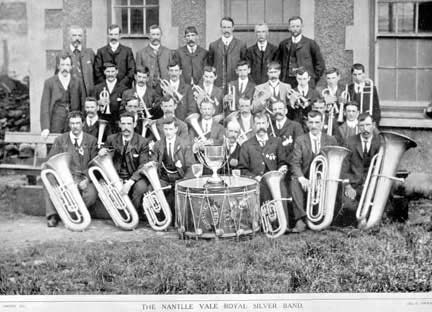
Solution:
[[(105, 79), (106, 63), (117, 66), (119, 83), (130, 88), (135, 73), (135, 60), (132, 49), (120, 43), (121, 29), (118, 25), (108, 27), (108, 44), (97, 50), (95, 58), (95, 78), (96, 83), (103, 83)], [(97, 93), (96, 93), (97, 95)]]

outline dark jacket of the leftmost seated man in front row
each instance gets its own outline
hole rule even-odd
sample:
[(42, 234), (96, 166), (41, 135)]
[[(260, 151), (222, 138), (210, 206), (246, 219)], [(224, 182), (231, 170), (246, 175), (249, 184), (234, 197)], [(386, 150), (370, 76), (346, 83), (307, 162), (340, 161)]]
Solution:
[(71, 173), (76, 176), (87, 176), (89, 162), (97, 156), (97, 140), (92, 135), (83, 133), (81, 146), (77, 150), (70, 139), (70, 132), (63, 133), (54, 140), (48, 158), (65, 152), (72, 155)]

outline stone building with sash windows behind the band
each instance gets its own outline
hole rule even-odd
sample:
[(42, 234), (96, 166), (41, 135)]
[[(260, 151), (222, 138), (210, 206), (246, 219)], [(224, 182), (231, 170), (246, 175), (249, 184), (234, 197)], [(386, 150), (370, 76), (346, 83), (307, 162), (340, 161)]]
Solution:
[(183, 45), (195, 25), (206, 48), (219, 36), (222, 16), (236, 22), (236, 36), (254, 41), (253, 27), (266, 22), (270, 41), (287, 36), (287, 20), (300, 15), (304, 33), (320, 45), (327, 66), (363, 63), (378, 87), (383, 126), (432, 127), (423, 117), (431, 101), (432, 1), (423, 0), (0, 0), (0, 70), (30, 76), (31, 129), (39, 131), (43, 81), (54, 70), (53, 55), (68, 43), (67, 27), (85, 28), (85, 45), (106, 44), (107, 25), (123, 30), (134, 51), (147, 44), (151, 24), (163, 29), (162, 43)]

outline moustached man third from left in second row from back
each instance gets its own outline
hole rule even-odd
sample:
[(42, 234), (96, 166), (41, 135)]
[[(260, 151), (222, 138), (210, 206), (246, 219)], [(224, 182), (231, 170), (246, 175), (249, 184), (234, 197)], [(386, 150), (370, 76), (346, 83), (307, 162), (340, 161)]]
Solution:
[[(138, 107), (142, 109), (147, 107), (152, 119), (162, 116), (162, 111), (157, 104), (157, 95), (155, 90), (148, 85), (150, 70), (148, 67), (137, 67), (135, 72), (135, 85), (122, 94), (122, 107), (126, 106), (126, 99), (132, 96), (138, 99)], [(145, 116), (149, 118), (149, 116)]]

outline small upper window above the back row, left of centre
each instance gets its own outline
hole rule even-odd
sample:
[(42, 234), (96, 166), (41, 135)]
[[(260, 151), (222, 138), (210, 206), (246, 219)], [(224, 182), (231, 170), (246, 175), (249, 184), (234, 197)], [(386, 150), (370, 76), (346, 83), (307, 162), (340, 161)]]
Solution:
[(141, 37), (153, 24), (159, 24), (159, 0), (112, 0), (112, 21), (122, 35)]

